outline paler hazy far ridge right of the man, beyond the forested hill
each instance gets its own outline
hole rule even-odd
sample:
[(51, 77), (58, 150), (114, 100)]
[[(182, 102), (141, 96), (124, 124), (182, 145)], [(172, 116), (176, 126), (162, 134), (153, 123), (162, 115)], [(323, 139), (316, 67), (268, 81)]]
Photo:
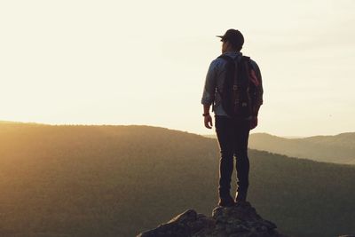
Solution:
[(319, 162), (355, 164), (355, 132), (310, 138), (280, 138), (255, 133), (250, 135), (249, 147)]

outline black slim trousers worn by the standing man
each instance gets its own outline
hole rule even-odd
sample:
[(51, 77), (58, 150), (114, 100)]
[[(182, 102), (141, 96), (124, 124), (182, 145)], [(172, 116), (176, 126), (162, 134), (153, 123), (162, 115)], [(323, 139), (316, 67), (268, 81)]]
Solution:
[(216, 115), (216, 132), (221, 152), (219, 162), (219, 192), (229, 194), (233, 172), (233, 157), (236, 156), (238, 192), (248, 191), (248, 136), (250, 122), (233, 120), (226, 116)]

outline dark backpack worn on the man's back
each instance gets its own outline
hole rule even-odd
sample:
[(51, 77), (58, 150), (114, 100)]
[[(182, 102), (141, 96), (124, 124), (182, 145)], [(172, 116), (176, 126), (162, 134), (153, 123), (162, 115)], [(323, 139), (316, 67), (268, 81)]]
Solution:
[(250, 58), (242, 56), (235, 60), (229, 56), (221, 55), (225, 59), (225, 82), (223, 91), (218, 91), (222, 99), (225, 113), (233, 118), (248, 119), (252, 115), (253, 100), (256, 87), (250, 83)]

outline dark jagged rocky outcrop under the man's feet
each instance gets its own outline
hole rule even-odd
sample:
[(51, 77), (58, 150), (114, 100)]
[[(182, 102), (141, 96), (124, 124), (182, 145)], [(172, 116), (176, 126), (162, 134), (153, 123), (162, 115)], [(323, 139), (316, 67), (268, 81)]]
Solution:
[(212, 217), (187, 209), (168, 223), (139, 233), (138, 237), (286, 237), (276, 231), (276, 225), (264, 220), (250, 203), (233, 207), (217, 207)]

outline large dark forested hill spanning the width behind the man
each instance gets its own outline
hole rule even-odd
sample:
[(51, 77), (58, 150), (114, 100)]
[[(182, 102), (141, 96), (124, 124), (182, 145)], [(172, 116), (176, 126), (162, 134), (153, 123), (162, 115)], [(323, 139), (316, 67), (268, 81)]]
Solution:
[[(355, 233), (354, 166), (249, 156), (248, 201), (280, 233)], [(215, 139), (178, 130), (2, 123), (0, 236), (135, 236), (184, 209), (209, 214), (218, 162)]]

